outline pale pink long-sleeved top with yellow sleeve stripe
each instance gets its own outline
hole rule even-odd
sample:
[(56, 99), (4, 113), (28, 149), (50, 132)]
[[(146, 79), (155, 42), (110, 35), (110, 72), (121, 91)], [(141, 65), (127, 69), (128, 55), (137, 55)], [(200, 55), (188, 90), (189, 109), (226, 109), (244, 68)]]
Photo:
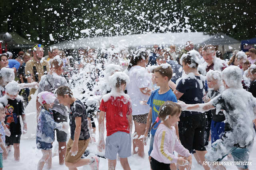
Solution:
[(172, 126), (172, 129), (170, 129), (163, 123), (160, 123), (155, 133), (153, 150), (150, 156), (158, 162), (176, 164), (178, 157), (173, 154), (174, 150), (182, 156), (190, 156), (189, 151), (178, 140), (175, 127)]

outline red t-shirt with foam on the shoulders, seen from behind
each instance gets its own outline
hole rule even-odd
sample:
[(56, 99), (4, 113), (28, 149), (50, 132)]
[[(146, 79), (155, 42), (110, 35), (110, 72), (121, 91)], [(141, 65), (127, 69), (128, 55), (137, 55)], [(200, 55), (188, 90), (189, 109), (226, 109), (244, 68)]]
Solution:
[(132, 114), (130, 100), (124, 96), (114, 98), (111, 96), (107, 102), (102, 99), (100, 110), (106, 112), (107, 136), (121, 131), (130, 133), (128, 115)]

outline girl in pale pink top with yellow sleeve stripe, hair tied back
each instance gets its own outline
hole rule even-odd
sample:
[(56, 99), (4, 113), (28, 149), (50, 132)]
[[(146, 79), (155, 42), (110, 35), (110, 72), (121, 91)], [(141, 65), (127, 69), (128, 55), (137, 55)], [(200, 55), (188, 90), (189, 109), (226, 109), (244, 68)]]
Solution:
[[(152, 170), (170, 170), (170, 164), (173, 163), (181, 166), (186, 165), (187, 170), (191, 168), (192, 156), (181, 145), (174, 128), (176, 123), (180, 121), (180, 113), (181, 107), (170, 101), (164, 102), (159, 109), (156, 122), (162, 119), (162, 123), (156, 130), (153, 150), (150, 154), (152, 157), (150, 160)], [(175, 156), (173, 154), (174, 150), (184, 157)]]

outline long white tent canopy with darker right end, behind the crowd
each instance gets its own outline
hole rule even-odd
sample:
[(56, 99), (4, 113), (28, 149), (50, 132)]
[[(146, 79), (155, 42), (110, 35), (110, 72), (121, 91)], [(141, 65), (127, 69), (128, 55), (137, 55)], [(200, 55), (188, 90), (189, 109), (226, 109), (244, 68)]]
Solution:
[[(221, 39), (222, 41), (216, 41)], [(133, 34), (122, 35), (113, 37), (92, 37), (83, 38), (74, 41), (61, 42), (50, 47), (57, 46), (60, 49), (78, 49), (80, 47), (86, 48), (108, 48), (110, 45), (124, 46), (124, 47), (152, 47), (157, 45), (176, 45), (184, 47), (187, 41), (192, 41), (194, 45), (201, 45), (204, 42), (213, 41), (212, 45), (229, 45), (239, 43), (235, 39), (224, 35), (208, 35), (203, 32), (190, 32), (190, 33), (146, 33), (146, 34)], [(231, 41), (232, 40), (232, 41)], [(217, 44), (218, 42), (221, 42)], [(224, 42), (224, 44), (223, 44)], [(210, 42), (209, 42), (210, 43)], [(214, 44), (216, 43), (216, 44)]]

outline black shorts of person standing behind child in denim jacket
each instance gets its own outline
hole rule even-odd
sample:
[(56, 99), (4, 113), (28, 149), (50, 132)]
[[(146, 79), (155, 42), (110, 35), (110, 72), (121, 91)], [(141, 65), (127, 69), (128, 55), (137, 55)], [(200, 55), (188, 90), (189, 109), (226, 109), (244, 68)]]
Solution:
[[(53, 113), (53, 119), (57, 123), (68, 121), (68, 117), (60, 114), (59, 112), (52, 110), (52, 113)], [(59, 129), (54, 129), (54, 130), (56, 131), (56, 136), (57, 136), (58, 142), (66, 142), (67, 141), (67, 134), (64, 131), (60, 131)]]

